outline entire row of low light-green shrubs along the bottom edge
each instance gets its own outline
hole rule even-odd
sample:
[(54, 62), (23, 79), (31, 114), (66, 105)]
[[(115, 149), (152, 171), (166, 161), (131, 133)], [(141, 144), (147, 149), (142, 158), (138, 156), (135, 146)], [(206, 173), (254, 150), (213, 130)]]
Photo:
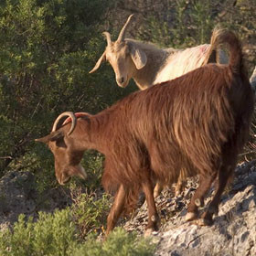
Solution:
[(81, 255), (153, 255), (155, 245), (135, 233), (115, 229), (107, 240), (96, 240), (95, 234), (87, 240), (78, 240), (78, 229), (71, 221), (70, 208), (53, 215), (40, 212), (38, 219), (25, 220), (20, 215), (14, 229), (0, 233), (2, 256), (81, 256)]

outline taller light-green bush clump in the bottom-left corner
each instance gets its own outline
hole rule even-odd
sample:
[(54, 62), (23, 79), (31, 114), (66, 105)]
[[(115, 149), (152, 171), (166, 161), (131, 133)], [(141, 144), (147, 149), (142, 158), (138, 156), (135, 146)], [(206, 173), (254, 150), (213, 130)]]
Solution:
[(76, 229), (69, 208), (53, 215), (39, 212), (37, 222), (20, 215), (13, 231), (1, 233), (0, 254), (3, 256), (68, 255), (76, 241)]

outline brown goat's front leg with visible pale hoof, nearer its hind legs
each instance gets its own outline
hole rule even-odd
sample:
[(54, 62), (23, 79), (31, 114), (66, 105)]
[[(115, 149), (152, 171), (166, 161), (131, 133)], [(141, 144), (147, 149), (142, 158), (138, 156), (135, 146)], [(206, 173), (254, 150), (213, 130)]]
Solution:
[(152, 182), (150, 180), (147, 180), (142, 184), (142, 187), (148, 211), (148, 224), (144, 235), (149, 236), (153, 231), (158, 230), (157, 224), (159, 221), (159, 217), (155, 207), (154, 187), (152, 185)]

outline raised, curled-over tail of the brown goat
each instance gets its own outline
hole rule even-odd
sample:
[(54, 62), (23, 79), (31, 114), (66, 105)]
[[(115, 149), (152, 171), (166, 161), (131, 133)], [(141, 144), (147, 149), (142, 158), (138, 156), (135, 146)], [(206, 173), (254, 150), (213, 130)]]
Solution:
[[(229, 68), (234, 73), (240, 74), (241, 72), (244, 72), (240, 39), (233, 32), (223, 28), (214, 28), (210, 39), (210, 45), (211, 47), (208, 50), (208, 56), (210, 56), (214, 50), (219, 50), (222, 45), (228, 45)], [(206, 58), (206, 61), (208, 61), (208, 58)]]

